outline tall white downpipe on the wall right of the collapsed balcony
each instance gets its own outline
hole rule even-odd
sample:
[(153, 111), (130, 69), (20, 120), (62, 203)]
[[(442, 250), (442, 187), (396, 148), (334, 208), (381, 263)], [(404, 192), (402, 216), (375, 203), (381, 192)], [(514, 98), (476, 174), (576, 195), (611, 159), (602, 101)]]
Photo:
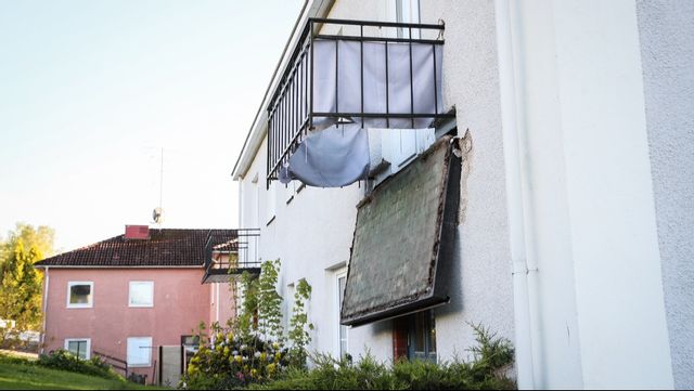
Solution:
[[(501, 94), (501, 122), (506, 172), (506, 201), (509, 208), (509, 234), (513, 261), (513, 298), (516, 368), (518, 389), (536, 387), (529, 268), (526, 249), (525, 216), (523, 203), (523, 162), (520, 161), (519, 132), (523, 131), (516, 100), (514, 41), (509, 0), (496, 0), (497, 48), (499, 55), (499, 84)], [(517, 32), (516, 32), (517, 34)], [(536, 341), (537, 342), (537, 341)]]

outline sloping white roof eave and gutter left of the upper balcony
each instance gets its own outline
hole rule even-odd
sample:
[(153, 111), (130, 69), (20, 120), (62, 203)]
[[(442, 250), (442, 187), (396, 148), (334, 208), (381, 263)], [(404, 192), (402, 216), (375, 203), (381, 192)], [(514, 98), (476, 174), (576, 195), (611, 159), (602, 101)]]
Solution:
[(231, 177), (234, 181), (242, 179), (246, 174), (255, 155), (258, 152), (258, 148), (260, 147), (260, 144), (262, 143), (262, 138), (267, 132), (267, 128), (265, 128), (267, 122), (266, 107), (268, 105), (268, 101), (272, 97), (271, 93), (274, 91), (279, 82), (278, 74), (282, 69), (282, 65), (285, 65), (285, 63), (288, 61), (287, 52), (291, 55), (298, 43), (298, 35), (296, 34), (298, 27), (301, 26), (304, 22), (309, 17), (325, 17), (330, 10), (333, 8), (334, 3), (335, 0), (305, 0), (304, 5), (301, 6), (301, 12), (299, 12), (299, 16), (294, 23), (292, 34), (290, 35), (290, 38), (284, 45), (284, 50), (282, 50), (282, 55), (278, 61), (278, 65), (274, 67), (272, 78), (270, 79), (270, 82), (268, 83), (268, 87), (265, 91), (262, 102), (258, 107), (258, 112), (256, 112), (256, 116), (253, 119), (253, 125), (250, 126), (250, 129), (246, 134), (246, 140), (243, 142), (243, 147), (241, 148), (241, 153), (239, 154), (236, 162), (234, 164), (234, 168), (231, 172)]

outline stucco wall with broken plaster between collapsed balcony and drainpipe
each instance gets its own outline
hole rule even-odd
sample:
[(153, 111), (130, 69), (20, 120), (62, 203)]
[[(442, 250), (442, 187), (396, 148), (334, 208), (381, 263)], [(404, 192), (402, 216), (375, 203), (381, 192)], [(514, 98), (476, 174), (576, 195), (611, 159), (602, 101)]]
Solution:
[[(446, 23), (444, 101), (454, 105), (463, 151), (451, 303), (436, 311), (439, 356), (474, 346), (466, 322), (513, 341), (513, 279), (492, 1), (423, 1), (423, 23)], [(474, 141), (474, 143), (472, 142)]]

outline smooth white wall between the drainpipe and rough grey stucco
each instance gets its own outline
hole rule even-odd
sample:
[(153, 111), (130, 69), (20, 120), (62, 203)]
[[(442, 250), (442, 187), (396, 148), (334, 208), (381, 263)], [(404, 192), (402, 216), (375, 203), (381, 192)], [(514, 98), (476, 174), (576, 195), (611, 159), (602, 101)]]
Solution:
[(516, 10), (536, 387), (670, 388), (635, 2)]

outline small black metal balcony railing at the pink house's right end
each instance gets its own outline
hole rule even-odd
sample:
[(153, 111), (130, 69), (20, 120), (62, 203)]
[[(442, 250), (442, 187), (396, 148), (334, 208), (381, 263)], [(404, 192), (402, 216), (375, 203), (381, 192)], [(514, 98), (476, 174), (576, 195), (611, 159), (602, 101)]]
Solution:
[(226, 283), (230, 275), (260, 274), (260, 229), (239, 229), (230, 234), (210, 233), (205, 245), (203, 284)]

